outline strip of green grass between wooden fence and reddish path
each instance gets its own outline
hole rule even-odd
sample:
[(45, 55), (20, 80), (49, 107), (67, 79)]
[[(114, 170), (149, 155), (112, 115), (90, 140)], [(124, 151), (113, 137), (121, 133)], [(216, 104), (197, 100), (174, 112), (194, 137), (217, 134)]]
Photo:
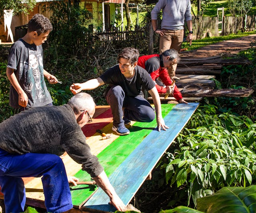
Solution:
[(243, 36), (249, 36), (252, 34), (256, 34), (256, 31), (252, 32), (244, 32), (244, 33), (238, 33), (238, 34), (230, 34), (228, 36), (217, 36), (217, 37), (206, 37), (203, 39), (198, 39), (198, 40), (193, 40), (192, 45), (189, 46), (188, 43), (183, 42), (182, 43), (182, 48), (187, 48), (188, 50), (193, 50), (193, 49), (198, 49), (200, 47), (204, 47), (206, 45), (210, 45), (213, 43), (218, 43), (221, 41), (226, 41), (230, 39), (235, 39)]

